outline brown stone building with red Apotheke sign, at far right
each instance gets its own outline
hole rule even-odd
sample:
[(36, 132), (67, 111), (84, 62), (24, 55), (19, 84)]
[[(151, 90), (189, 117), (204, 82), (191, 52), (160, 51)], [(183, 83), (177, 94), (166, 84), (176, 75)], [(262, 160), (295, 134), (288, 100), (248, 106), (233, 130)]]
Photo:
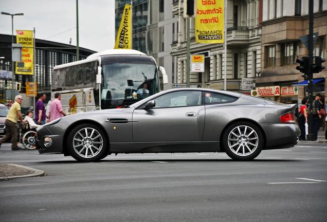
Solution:
[[(308, 49), (299, 40), (309, 33), (308, 0), (262, 1), (262, 63), (256, 79), (261, 97), (282, 103), (298, 103), (308, 96), (307, 87), (296, 85), (304, 79), (296, 70), (296, 60), (308, 55)], [(326, 57), (327, 1), (314, 1), (314, 33), (318, 38), (314, 55)], [(326, 66), (326, 64), (324, 64)], [(314, 95), (325, 97), (327, 71), (314, 73)]]

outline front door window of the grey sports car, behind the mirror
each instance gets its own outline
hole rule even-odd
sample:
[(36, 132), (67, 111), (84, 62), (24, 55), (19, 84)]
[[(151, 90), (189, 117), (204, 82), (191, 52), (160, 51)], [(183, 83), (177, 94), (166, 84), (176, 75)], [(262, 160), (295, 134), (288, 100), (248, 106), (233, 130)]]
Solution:
[(154, 108), (201, 105), (201, 91), (177, 91), (160, 96), (154, 101)]

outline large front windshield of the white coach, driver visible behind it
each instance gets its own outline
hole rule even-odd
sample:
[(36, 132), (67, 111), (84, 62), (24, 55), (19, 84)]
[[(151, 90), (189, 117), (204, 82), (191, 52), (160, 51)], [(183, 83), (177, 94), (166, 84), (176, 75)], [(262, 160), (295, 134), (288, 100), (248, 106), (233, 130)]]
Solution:
[(101, 109), (131, 105), (158, 93), (155, 63), (113, 63), (102, 65)]

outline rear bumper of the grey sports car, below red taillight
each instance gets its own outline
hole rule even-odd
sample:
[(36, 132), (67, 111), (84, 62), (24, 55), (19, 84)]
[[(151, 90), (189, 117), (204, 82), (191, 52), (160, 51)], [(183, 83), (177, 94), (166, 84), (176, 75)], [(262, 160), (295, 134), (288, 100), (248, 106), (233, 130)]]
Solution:
[(266, 136), (264, 150), (283, 149), (296, 145), (301, 135), (300, 127), (292, 123), (260, 124)]

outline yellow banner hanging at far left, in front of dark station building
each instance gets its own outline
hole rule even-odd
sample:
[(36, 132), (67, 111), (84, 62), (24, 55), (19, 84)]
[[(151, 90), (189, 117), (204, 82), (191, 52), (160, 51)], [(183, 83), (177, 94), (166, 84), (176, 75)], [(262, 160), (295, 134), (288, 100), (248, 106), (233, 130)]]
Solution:
[(22, 44), (22, 62), (24, 63), (24, 67), (17, 67), (16, 64), (16, 74), (33, 75), (33, 31), (16, 30), (16, 42)]

